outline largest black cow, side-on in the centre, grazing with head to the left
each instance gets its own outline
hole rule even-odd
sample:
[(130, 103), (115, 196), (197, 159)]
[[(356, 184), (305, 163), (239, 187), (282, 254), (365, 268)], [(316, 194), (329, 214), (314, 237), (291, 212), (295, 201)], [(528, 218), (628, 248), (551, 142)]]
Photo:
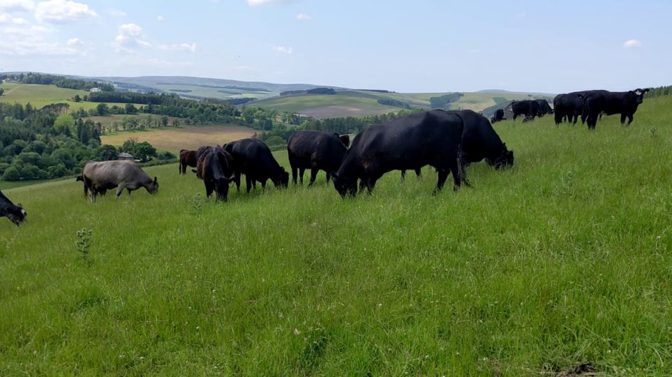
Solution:
[(366, 187), (371, 193), (386, 172), (431, 165), (438, 171), (435, 193), (449, 173), (457, 189), (464, 178), (458, 161), (463, 127), (459, 114), (443, 110), (415, 112), (368, 127), (354, 137), (338, 172), (331, 173), (334, 187), (342, 198), (354, 196), (359, 180), (359, 191)]

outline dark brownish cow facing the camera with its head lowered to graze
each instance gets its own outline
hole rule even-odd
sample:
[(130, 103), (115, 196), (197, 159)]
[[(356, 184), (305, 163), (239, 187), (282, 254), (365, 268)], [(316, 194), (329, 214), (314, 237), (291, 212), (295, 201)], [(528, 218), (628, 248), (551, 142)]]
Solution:
[(208, 200), (213, 191), (216, 200), (227, 200), (229, 184), (234, 181), (233, 157), (222, 147), (207, 149), (198, 159), (196, 170), (203, 179)]

